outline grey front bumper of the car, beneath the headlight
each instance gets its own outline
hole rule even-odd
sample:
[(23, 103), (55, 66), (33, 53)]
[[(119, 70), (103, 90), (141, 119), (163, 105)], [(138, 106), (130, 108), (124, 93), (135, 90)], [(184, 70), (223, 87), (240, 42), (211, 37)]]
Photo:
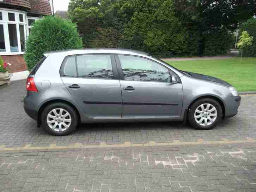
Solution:
[(241, 97), (238, 95), (236, 97), (226, 97), (223, 99), (225, 105), (225, 116), (224, 118), (233, 117), (237, 114), (238, 108), (241, 103)]

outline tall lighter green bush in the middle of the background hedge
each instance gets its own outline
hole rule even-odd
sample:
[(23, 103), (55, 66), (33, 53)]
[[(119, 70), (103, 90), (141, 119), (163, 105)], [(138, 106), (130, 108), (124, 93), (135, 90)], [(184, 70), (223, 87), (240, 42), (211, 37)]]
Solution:
[(134, 11), (124, 30), (129, 48), (160, 57), (184, 55), (187, 33), (175, 17), (172, 1), (131, 1), (126, 6)]

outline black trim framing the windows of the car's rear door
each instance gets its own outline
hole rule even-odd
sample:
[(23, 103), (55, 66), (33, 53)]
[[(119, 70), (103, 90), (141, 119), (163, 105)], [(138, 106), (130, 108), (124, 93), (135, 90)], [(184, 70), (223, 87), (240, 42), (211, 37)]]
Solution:
[[(112, 72), (113, 72), (113, 79), (105, 79), (105, 78), (88, 78), (88, 77), (79, 77), (78, 76), (78, 67), (77, 67), (77, 56), (82, 56), (82, 55), (110, 55), (111, 58), (111, 66), (112, 66)], [(64, 63), (66, 61), (66, 59), (68, 57), (75, 57), (75, 67), (77, 70), (77, 76), (75, 77), (71, 77), (71, 76), (64, 76), (63, 74), (63, 67), (64, 67)], [(83, 78), (83, 79), (102, 79), (102, 80), (119, 80), (119, 76), (118, 76), (118, 72), (117, 72), (117, 64), (114, 58), (114, 54), (111, 53), (87, 53), (87, 54), (75, 54), (75, 55), (68, 55), (66, 56), (62, 63), (61, 63), (61, 67), (60, 67), (60, 76), (61, 78)]]

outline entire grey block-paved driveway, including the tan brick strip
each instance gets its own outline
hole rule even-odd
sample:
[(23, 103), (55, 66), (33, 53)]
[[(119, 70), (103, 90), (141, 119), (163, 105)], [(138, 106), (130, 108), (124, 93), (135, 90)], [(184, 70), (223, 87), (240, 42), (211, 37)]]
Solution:
[(256, 95), (213, 130), (178, 122), (82, 124), (48, 135), (0, 89), (0, 192), (256, 192)]

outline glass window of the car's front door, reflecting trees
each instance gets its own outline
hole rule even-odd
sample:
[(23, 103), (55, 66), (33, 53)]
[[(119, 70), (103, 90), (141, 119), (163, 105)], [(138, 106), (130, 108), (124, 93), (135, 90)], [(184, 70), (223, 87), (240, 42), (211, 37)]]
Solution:
[(119, 55), (124, 80), (170, 82), (169, 70), (142, 57)]

